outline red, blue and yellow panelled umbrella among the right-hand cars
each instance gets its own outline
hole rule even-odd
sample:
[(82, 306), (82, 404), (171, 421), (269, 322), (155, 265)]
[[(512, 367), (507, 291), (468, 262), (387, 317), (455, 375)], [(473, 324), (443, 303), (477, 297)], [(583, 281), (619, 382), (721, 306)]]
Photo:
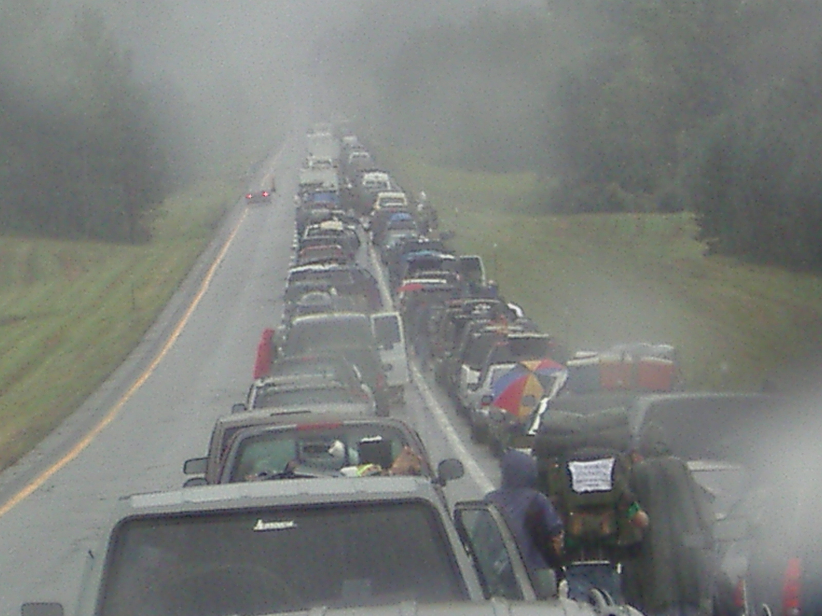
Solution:
[(552, 390), (556, 379), (566, 373), (564, 365), (547, 357), (520, 361), (496, 380), (492, 390), (493, 404), (525, 420), (537, 407), (540, 398)]

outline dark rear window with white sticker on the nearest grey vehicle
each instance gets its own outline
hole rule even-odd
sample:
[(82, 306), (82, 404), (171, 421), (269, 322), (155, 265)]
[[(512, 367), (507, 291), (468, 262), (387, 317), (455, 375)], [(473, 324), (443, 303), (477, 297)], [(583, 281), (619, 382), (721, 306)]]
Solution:
[(427, 503), (279, 508), (125, 522), (99, 616), (222, 616), (467, 599)]

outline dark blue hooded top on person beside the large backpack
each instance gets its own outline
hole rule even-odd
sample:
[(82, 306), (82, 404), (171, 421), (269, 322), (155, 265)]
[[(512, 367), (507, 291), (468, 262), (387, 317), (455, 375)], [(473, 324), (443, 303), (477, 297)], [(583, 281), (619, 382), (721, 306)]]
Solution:
[(537, 462), (527, 453), (510, 449), (502, 456), (501, 471), (500, 489), (489, 492), (485, 499), (500, 508), (529, 572), (547, 568), (549, 564), (526, 526), (526, 517), (530, 511), (532, 523), (542, 524), (543, 535), (551, 537), (561, 533), (562, 519), (547, 496), (536, 489)]

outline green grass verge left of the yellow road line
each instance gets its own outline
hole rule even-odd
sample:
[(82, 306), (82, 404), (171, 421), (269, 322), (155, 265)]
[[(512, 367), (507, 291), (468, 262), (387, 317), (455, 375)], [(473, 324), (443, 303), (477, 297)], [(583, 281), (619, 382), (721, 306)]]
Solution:
[(240, 190), (215, 181), (173, 195), (146, 246), (0, 237), (0, 469), (136, 346)]

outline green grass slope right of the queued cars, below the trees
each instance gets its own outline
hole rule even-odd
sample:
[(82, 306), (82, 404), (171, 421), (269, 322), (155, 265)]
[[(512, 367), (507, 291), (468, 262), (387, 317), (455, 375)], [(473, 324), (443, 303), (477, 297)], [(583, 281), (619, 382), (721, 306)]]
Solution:
[(381, 154), (426, 191), (458, 251), (483, 255), (501, 292), (570, 349), (668, 342), (686, 388), (720, 390), (788, 378), (820, 349), (822, 278), (705, 256), (689, 214), (534, 214), (533, 174)]

